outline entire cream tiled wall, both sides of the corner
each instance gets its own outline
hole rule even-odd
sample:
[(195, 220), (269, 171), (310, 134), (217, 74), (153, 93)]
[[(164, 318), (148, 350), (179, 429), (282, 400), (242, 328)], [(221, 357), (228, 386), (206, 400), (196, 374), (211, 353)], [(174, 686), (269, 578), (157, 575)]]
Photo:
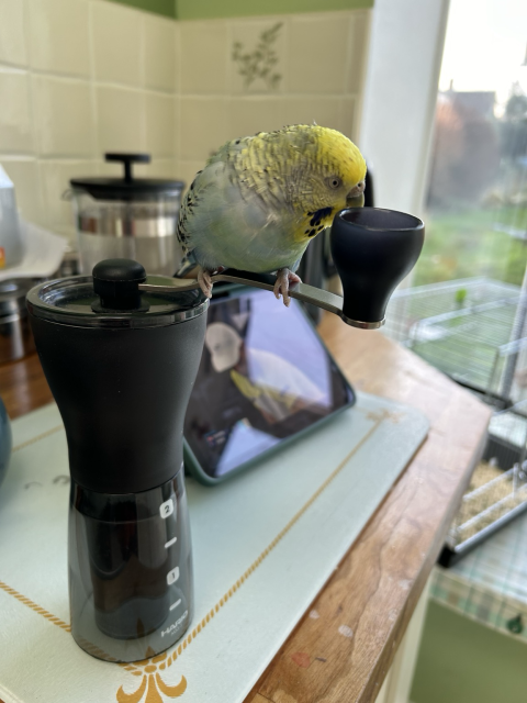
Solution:
[[(190, 182), (225, 140), (313, 122), (357, 135), (370, 13), (175, 22), (106, 0), (0, 0), (0, 163), (23, 215), (71, 237), (74, 176), (116, 175), (108, 150), (141, 150), (141, 176)], [(248, 88), (233, 43), (281, 23), (281, 79)]]

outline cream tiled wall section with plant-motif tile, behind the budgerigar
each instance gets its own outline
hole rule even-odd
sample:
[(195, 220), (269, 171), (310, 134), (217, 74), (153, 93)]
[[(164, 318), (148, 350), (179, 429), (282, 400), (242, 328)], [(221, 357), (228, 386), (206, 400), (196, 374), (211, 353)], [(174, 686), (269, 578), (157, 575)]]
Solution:
[[(250, 53), (277, 23), (281, 80), (246, 89), (233, 44)], [(368, 10), (178, 22), (180, 177), (189, 181), (225, 140), (284, 124), (315, 121), (357, 138), (369, 24)]]

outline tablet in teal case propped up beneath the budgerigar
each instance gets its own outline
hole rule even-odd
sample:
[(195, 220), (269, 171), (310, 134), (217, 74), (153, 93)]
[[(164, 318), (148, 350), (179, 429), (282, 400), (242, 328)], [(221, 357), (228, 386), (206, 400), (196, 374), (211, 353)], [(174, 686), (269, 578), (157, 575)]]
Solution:
[(355, 403), (301, 303), (243, 288), (212, 300), (184, 420), (186, 470), (212, 484)]

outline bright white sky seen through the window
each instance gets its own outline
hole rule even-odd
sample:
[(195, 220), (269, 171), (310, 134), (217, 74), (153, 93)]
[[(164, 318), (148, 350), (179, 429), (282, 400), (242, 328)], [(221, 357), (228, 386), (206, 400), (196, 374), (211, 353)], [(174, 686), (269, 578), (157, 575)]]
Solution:
[(527, 93), (527, 0), (450, 0), (439, 89)]

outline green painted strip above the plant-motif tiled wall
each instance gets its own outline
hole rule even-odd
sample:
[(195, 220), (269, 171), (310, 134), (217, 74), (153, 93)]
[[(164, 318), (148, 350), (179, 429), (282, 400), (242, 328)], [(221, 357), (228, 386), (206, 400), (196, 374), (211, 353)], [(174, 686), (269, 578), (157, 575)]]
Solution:
[(176, 0), (178, 20), (371, 8), (373, 0)]

